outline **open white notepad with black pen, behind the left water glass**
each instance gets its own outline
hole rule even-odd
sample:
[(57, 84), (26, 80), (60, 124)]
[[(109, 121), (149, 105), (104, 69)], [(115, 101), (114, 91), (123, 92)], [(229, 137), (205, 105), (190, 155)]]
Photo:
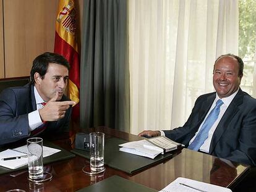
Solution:
[[(43, 157), (51, 156), (52, 154), (59, 151), (61, 150), (43, 146)], [(19, 159), (13, 159), (10, 157), (17, 157)], [(6, 149), (5, 151), (0, 152), (0, 166), (2, 167), (7, 167), (9, 169), (17, 169), (27, 164), (27, 145), (15, 149)]]

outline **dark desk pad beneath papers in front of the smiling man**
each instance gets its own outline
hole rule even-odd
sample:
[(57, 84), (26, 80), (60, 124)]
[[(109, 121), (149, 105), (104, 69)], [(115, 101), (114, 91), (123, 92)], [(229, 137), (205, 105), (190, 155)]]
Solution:
[[(105, 157), (104, 163), (114, 169), (122, 170), (123, 172), (133, 174), (140, 170), (146, 169), (153, 164), (158, 164), (166, 159), (171, 159), (179, 152), (174, 154), (166, 153), (155, 157), (155, 159), (149, 159), (147, 157), (137, 156), (127, 152), (119, 151), (119, 144), (126, 143), (127, 141), (120, 138), (109, 138), (105, 140)], [(90, 159), (90, 152), (80, 149), (72, 149), (71, 152), (79, 156)]]

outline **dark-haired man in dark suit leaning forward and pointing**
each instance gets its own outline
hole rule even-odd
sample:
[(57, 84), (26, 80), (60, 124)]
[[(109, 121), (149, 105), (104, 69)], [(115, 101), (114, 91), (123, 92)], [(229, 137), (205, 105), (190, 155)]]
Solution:
[(0, 144), (68, 131), (75, 104), (64, 95), (69, 68), (64, 57), (45, 52), (33, 61), (29, 84), (2, 91)]

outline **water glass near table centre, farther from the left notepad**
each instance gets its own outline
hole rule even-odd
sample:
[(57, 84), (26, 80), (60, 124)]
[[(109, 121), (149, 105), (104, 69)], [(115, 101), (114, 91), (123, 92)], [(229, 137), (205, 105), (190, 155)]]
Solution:
[(104, 137), (101, 132), (90, 133), (90, 169), (102, 172), (104, 168)]

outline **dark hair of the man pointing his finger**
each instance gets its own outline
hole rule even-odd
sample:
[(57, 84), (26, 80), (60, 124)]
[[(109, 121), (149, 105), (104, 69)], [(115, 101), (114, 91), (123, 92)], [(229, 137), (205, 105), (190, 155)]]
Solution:
[(37, 56), (33, 61), (32, 69), (30, 71), (30, 83), (35, 84), (34, 75), (36, 72), (39, 73), (40, 77), (43, 79), (50, 63), (64, 65), (68, 70), (70, 69), (69, 62), (63, 56), (53, 52), (45, 52), (44, 54)]

